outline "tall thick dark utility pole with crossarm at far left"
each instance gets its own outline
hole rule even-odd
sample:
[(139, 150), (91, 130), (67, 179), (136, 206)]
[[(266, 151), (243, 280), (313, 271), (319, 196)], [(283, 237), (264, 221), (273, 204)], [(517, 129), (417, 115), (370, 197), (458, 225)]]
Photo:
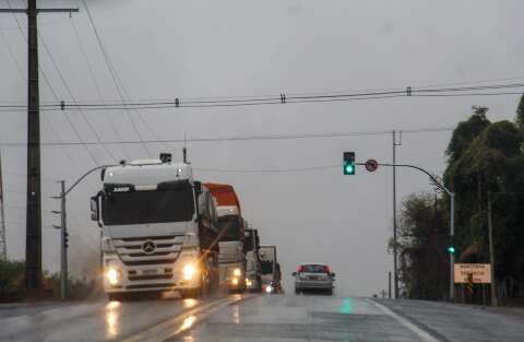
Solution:
[(41, 290), (40, 117), (38, 94), (38, 23), (40, 12), (78, 12), (79, 9), (0, 9), (0, 13), (27, 14), (27, 212), (25, 228), (25, 286)]

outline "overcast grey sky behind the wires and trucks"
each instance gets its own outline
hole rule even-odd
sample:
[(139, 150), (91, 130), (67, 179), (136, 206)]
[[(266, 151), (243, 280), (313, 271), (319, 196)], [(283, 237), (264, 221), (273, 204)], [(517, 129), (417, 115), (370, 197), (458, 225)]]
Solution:
[[(13, 7), (22, 1), (11, 0)], [(171, 1), (90, 0), (90, 9), (110, 59), (133, 99), (266, 95), (453, 84), (511, 78), (524, 80), (522, 1)], [(8, 7), (0, 0), (2, 8)], [(39, 1), (40, 7), (80, 7), (80, 13), (40, 14), (40, 34), (78, 101), (99, 102), (118, 93), (104, 62), (86, 11), (79, 1)], [(17, 16), (25, 28), (24, 15)], [(81, 52), (80, 42), (86, 51)], [(40, 67), (59, 99), (70, 99), (40, 42)], [(13, 59), (16, 59), (15, 60)], [(40, 78), (41, 78), (40, 72)], [(500, 82), (499, 82), (500, 83)], [(0, 14), (0, 102), (26, 99), (26, 47), (11, 14)], [(40, 98), (55, 96), (40, 80)], [(286, 104), (233, 108), (131, 111), (143, 139), (300, 134), (453, 127), (472, 105), (490, 108), (491, 120), (513, 119), (519, 96), (401, 97), (329, 104)], [(43, 141), (84, 141), (96, 137), (76, 110), (41, 114)], [(139, 119), (141, 116), (147, 123)], [(136, 140), (126, 111), (85, 111), (103, 141)], [(116, 129), (111, 128), (110, 120)], [(451, 131), (405, 133), (400, 162), (433, 173), (444, 168)], [(26, 114), (0, 113), (0, 142), (26, 140)], [(343, 151), (358, 161), (391, 161), (391, 134), (325, 139), (193, 142), (194, 167), (282, 169), (338, 164)], [(140, 145), (109, 145), (117, 158), (144, 158)], [(152, 154), (180, 144), (148, 144)], [(97, 164), (111, 163), (91, 146)], [(1, 148), (8, 253), (25, 249), (25, 148)], [(43, 148), (44, 262), (58, 269), (58, 202), (52, 179), (71, 182), (95, 162), (85, 148)], [(398, 172), (398, 200), (431, 190), (427, 177)], [(340, 168), (302, 173), (218, 173), (196, 170), (204, 181), (236, 187), (246, 219), (263, 244), (278, 246), (286, 275), (298, 262), (332, 264), (343, 292), (369, 295), (386, 288), (393, 260), (391, 169), (343, 176)], [(69, 197), (71, 267), (90, 273), (98, 260), (96, 224), (88, 197), (99, 187), (94, 175)], [(457, 227), (460, 228), (460, 227)], [(289, 278), (286, 279), (289, 285)]]

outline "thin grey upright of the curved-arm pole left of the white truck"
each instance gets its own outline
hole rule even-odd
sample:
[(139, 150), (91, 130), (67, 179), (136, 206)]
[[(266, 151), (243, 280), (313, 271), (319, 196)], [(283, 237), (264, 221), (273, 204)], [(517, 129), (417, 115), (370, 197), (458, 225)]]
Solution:
[(68, 216), (66, 208), (66, 180), (60, 180), (60, 196), (53, 197), (60, 199), (60, 211), (52, 211), (53, 214), (60, 214), (60, 225), (53, 227), (60, 229), (60, 299), (68, 298)]

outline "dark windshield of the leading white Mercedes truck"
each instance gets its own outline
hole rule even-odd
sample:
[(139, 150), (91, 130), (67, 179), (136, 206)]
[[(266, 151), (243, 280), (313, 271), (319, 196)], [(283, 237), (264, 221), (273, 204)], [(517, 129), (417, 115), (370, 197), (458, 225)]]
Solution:
[(109, 192), (104, 196), (106, 225), (191, 221), (194, 214), (191, 186), (154, 191)]

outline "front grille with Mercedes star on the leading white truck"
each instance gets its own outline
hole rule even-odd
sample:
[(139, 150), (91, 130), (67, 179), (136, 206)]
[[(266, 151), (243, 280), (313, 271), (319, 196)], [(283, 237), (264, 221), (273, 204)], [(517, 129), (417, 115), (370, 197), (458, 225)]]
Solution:
[[(147, 241), (153, 243), (153, 250), (144, 250), (144, 244)], [(183, 235), (120, 238), (114, 239), (114, 244), (126, 266), (166, 264), (177, 260), (183, 244)]]

